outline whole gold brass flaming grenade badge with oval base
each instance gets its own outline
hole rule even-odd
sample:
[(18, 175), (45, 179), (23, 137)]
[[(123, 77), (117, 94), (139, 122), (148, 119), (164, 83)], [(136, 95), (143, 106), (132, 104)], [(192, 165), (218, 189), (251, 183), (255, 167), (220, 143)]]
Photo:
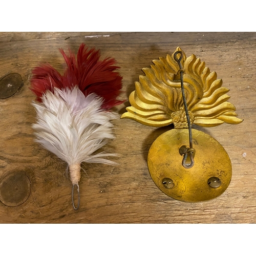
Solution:
[[(178, 58), (179, 56), (179, 58)], [(155, 184), (168, 196), (197, 202), (221, 195), (231, 180), (231, 162), (211, 136), (191, 129), (191, 124), (212, 127), (243, 120), (227, 100), (227, 88), (194, 54), (186, 58), (178, 47), (166, 58), (143, 68), (121, 118), (175, 129), (159, 136), (148, 152), (147, 164)]]

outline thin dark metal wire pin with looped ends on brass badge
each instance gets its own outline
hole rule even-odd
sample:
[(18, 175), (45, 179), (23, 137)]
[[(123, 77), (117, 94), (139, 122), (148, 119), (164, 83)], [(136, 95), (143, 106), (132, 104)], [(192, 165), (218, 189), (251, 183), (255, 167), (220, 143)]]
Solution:
[[(177, 57), (177, 54), (180, 54), (179, 58)], [(183, 160), (182, 160), (182, 165), (185, 168), (191, 168), (191, 167), (194, 166), (194, 163), (195, 163), (195, 161), (194, 161), (194, 154), (193, 154), (193, 152), (195, 153), (195, 150), (193, 148), (193, 138), (192, 138), (191, 122), (190, 122), (190, 118), (189, 118), (189, 114), (188, 114), (187, 102), (186, 102), (185, 91), (184, 91), (184, 84), (183, 84), (184, 69), (183, 69), (183, 67), (181, 65), (182, 58), (183, 58), (183, 52), (182, 51), (175, 52), (174, 59), (175, 59), (175, 61), (177, 61), (178, 65), (179, 65), (179, 68), (180, 68), (178, 73), (180, 73), (181, 92), (182, 92), (184, 109), (185, 109), (186, 118), (187, 118), (188, 134), (189, 134), (189, 148), (184, 152), (184, 156), (183, 156)], [(189, 154), (189, 157), (190, 157), (190, 163), (186, 164), (188, 154)]]

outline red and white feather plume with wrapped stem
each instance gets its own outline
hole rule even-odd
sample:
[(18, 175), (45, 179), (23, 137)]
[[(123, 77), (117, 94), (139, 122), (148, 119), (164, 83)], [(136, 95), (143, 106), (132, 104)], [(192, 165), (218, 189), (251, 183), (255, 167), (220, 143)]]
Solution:
[(116, 164), (104, 157), (117, 154), (93, 153), (114, 138), (116, 115), (108, 110), (123, 102), (116, 99), (122, 77), (115, 72), (115, 59), (100, 60), (99, 50), (81, 44), (77, 58), (70, 50), (60, 52), (67, 63), (63, 75), (49, 64), (32, 71), (30, 89), (38, 101), (32, 102), (33, 129), (37, 142), (68, 163), (72, 184), (78, 186), (81, 162)]

